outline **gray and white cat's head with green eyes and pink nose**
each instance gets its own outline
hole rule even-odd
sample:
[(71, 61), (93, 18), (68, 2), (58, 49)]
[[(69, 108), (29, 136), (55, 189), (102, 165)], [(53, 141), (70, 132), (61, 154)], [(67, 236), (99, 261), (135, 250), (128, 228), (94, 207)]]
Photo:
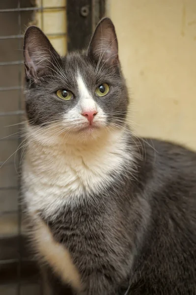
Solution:
[(32, 130), (86, 141), (124, 124), (128, 95), (109, 18), (98, 24), (87, 51), (65, 57), (31, 26), (25, 33), (24, 58), (26, 113)]

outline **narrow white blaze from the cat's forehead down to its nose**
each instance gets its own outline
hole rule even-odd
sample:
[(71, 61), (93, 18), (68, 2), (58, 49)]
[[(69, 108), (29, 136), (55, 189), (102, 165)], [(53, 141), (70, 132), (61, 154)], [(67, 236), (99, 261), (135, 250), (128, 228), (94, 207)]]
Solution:
[(88, 92), (82, 75), (78, 73), (77, 77), (78, 89), (80, 93), (80, 100), (79, 104), (81, 107), (81, 111), (88, 112), (88, 111), (97, 111), (97, 104)]

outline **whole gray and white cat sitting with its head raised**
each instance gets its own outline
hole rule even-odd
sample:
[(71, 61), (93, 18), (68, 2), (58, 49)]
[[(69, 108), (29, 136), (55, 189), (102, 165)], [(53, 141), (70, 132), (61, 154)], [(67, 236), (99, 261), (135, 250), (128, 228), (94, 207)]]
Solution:
[(196, 294), (196, 153), (130, 131), (111, 19), (65, 57), (31, 26), (24, 59), (22, 193), (50, 294)]

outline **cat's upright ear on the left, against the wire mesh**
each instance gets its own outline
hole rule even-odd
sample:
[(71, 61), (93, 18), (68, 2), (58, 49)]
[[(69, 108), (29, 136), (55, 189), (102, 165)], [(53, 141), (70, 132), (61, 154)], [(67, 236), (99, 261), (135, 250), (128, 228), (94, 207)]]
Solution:
[(30, 26), (25, 32), (24, 59), (26, 76), (36, 80), (53, 68), (58, 54), (41, 29)]

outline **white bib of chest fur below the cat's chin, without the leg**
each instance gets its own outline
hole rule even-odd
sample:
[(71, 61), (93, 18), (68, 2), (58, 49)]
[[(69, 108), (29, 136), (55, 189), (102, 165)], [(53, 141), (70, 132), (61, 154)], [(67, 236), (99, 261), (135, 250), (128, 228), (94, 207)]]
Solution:
[(40, 145), (32, 141), (23, 166), (23, 188), (30, 212), (53, 215), (66, 202), (104, 188), (112, 171), (130, 159), (121, 131), (89, 145)]

